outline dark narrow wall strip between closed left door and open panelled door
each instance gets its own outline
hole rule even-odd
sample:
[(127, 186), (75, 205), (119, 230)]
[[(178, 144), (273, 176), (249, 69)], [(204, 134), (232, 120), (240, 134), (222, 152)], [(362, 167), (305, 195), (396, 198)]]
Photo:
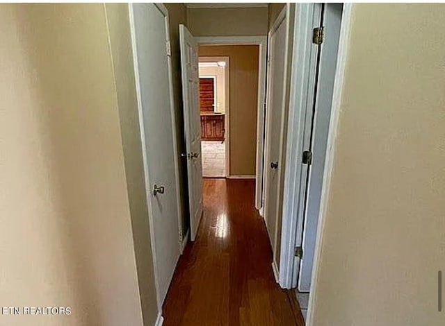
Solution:
[(179, 51), (179, 24), (186, 24), (187, 12), (184, 3), (163, 3), (168, 10), (168, 19), (170, 24), (170, 44), (172, 51), (172, 76), (173, 76), (173, 93), (175, 98), (175, 111), (177, 123), (177, 144), (178, 155), (180, 157), (179, 178), (181, 191), (181, 216), (184, 221), (181, 225), (182, 235), (185, 237), (188, 230), (188, 198), (186, 193), (187, 179), (187, 162), (181, 158), (181, 153), (186, 153), (186, 143), (184, 137), (184, 107), (182, 103), (182, 80), (181, 80), (181, 52)]

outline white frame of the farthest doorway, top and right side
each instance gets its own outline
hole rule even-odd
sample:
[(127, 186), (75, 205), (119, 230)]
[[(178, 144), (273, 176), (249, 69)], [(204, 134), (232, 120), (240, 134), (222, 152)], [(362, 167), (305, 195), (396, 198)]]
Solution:
[[(197, 39), (197, 37), (195, 37)], [(198, 45), (200, 43), (198, 42)], [(198, 65), (199, 62), (214, 62), (214, 61), (224, 61), (225, 67), (224, 67), (224, 90), (225, 90), (225, 121), (224, 121), (224, 138), (225, 138), (225, 178), (229, 178), (230, 175), (230, 58), (227, 56), (209, 56), (204, 55), (200, 57), (198, 55)], [(204, 77), (204, 76), (203, 76)], [(216, 94), (216, 85), (215, 85), (215, 94)], [(215, 96), (216, 98), (216, 96)], [(215, 100), (216, 103), (216, 100)]]

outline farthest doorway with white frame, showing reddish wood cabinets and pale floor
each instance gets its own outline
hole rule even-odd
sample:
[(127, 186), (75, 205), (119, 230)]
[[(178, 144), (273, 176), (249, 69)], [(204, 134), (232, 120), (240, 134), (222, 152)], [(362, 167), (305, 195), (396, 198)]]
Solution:
[(225, 178), (229, 169), (229, 57), (199, 58), (202, 176)]

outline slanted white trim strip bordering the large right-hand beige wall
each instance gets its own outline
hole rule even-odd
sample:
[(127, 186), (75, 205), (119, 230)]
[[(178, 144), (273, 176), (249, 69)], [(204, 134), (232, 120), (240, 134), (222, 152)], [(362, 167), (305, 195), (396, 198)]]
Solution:
[(318, 271), (323, 243), (323, 230), (325, 227), (325, 216), (327, 213), (327, 200), (329, 198), (332, 168), (334, 165), (334, 146), (339, 126), (339, 112), (341, 105), (341, 94), (343, 93), (344, 75), (346, 69), (346, 58), (348, 56), (348, 41), (353, 3), (343, 3), (343, 14), (341, 17), (341, 31), (339, 40), (339, 53), (337, 56), (337, 71), (334, 82), (334, 95), (332, 97), (332, 110), (329, 126), (329, 137), (327, 139), (326, 162), (323, 172), (323, 189), (321, 194), (320, 214), (318, 216), (318, 230), (316, 237), (316, 248), (314, 255), (314, 269), (312, 270), (312, 286), (309, 293), (309, 305), (307, 307), (306, 325), (314, 325), (314, 307), (316, 307), (316, 288), (318, 286)]

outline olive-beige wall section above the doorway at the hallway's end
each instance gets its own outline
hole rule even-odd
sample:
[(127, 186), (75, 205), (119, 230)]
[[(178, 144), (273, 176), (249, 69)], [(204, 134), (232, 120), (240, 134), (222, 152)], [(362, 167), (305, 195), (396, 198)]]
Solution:
[(194, 36), (267, 35), (268, 8), (188, 8)]

